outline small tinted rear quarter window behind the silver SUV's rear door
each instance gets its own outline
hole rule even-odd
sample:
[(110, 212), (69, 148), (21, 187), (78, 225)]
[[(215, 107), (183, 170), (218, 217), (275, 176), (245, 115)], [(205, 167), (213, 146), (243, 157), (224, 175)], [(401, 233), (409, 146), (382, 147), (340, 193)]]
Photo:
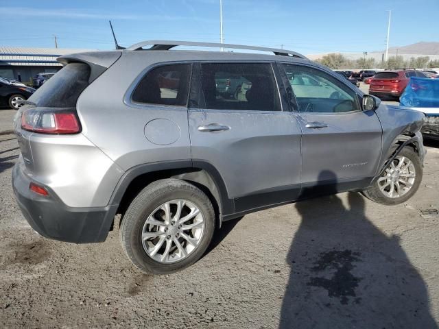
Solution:
[(158, 66), (147, 72), (132, 93), (132, 101), (186, 106), (191, 64)]

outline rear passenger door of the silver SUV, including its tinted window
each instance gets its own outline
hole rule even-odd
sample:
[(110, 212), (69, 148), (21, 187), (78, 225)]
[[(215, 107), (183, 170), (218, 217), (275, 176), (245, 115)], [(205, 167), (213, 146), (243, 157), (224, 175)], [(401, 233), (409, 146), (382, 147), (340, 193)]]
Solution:
[[(300, 126), (287, 106), (283, 111), (272, 64), (197, 67), (189, 108), (194, 164), (209, 162), (219, 171), (236, 212), (296, 199)], [(241, 81), (235, 93), (224, 93), (225, 79)]]

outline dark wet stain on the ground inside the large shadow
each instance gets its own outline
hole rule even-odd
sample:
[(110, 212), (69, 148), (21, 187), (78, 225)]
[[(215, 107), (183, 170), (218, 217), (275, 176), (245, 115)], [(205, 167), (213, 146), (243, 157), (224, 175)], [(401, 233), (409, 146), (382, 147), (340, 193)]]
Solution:
[[(349, 297), (356, 297), (355, 289), (361, 281), (361, 278), (356, 278), (351, 273), (354, 263), (361, 261), (359, 256), (358, 252), (351, 250), (322, 252), (316, 266), (311, 268), (311, 271), (322, 276), (312, 277), (307, 285), (326, 289), (329, 297), (339, 299), (341, 304), (348, 304)], [(331, 278), (328, 278), (328, 273), (332, 273)], [(360, 299), (356, 298), (355, 303), (359, 302)]]

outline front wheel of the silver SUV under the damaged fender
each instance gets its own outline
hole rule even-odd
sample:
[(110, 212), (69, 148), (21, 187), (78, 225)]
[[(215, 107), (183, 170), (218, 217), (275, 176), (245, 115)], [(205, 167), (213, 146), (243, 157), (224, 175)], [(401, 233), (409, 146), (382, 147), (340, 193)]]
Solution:
[(364, 195), (379, 204), (401, 204), (418, 191), (422, 178), (423, 166), (418, 154), (405, 147)]

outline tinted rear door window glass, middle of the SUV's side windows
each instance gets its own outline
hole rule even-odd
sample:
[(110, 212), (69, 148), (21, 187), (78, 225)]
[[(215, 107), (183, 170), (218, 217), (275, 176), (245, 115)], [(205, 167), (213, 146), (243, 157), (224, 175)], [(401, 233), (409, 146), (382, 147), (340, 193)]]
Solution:
[(271, 64), (201, 64), (201, 84), (206, 108), (281, 110)]

